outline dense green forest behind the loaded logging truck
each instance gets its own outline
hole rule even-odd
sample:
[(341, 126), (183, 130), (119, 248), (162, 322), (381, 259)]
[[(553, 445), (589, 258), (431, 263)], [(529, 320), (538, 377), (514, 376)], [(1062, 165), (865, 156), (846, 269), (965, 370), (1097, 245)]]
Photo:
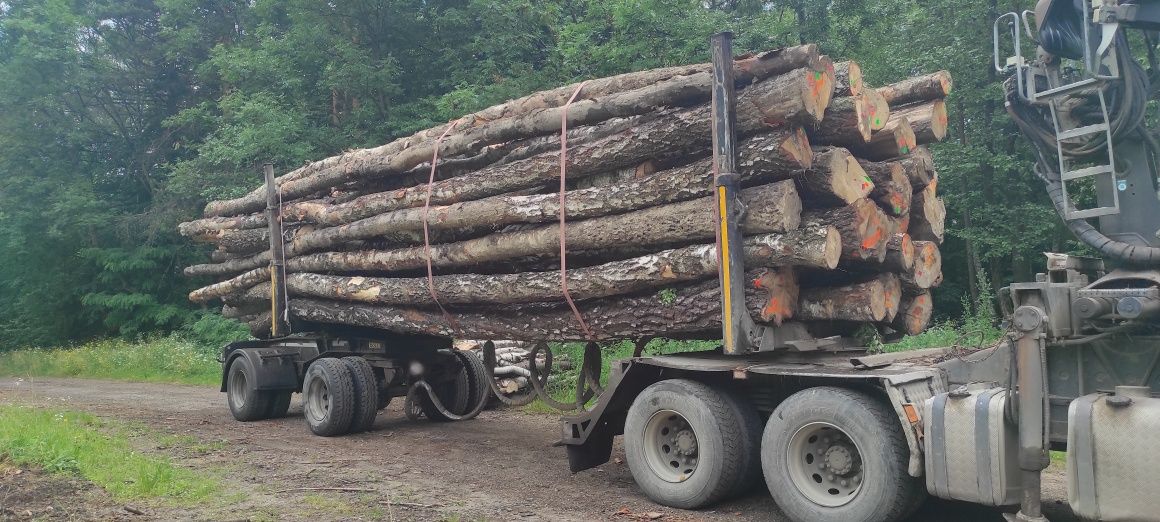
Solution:
[(958, 318), (1079, 245), (1003, 108), (998, 0), (0, 0), (0, 350), (237, 325), (187, 299), (208, 201), (572, 81), (805, 42), (886, 85), (948, 70), (933, 146)]

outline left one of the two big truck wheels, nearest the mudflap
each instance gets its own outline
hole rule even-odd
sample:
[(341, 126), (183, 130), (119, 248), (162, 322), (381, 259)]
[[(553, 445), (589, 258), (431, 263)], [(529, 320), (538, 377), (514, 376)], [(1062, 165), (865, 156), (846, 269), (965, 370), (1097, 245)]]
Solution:
[(687, 379), (655, 383), (637, 396), (625, 419), (629, 471), (665, 506), (713, 503), (735, 492), (745, 473), (744, 423), (722, 391)]

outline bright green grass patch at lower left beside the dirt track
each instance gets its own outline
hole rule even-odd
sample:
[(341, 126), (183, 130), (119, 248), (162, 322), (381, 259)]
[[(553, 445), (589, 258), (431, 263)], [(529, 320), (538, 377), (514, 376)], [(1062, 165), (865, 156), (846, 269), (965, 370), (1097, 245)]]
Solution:
[(117, 500), (193, 505), (220, 490), (213, 478), (133, 451), (123, 433), (85, 413), (0, 406), (0, 455), (77, 474)]

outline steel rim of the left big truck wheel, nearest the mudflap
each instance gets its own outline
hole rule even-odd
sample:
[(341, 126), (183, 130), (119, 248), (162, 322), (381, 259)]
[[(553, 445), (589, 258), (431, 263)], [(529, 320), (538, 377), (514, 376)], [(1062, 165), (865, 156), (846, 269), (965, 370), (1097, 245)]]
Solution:
[(662, 480), (683, 483), (697, 471), (697, 434), (684, 415), (672, 409), (653, 413), (643, 442), (648, 469)]

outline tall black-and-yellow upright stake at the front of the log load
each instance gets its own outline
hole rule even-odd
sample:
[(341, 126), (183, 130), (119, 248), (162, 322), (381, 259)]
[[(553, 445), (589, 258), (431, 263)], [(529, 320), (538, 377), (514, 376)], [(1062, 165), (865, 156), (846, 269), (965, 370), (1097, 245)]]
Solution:
[(733, 85), (733, 34), (710, 38), (713, 64), (713, 194), (717, 224), (717, 262), (722, 285), (722, 341), (726, 354), (745, 354), (753, 348), (753, 318), (745, 306), (745, 249), (740, 218), (741, 184), (737, 173), (737, 92)]

